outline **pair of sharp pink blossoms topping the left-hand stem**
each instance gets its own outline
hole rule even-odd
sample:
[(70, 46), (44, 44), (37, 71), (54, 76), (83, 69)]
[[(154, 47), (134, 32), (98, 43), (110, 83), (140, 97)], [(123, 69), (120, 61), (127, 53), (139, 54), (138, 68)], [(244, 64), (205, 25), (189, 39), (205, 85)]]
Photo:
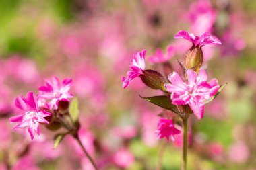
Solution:
[[(28, 127), (31, 139), (34, 139), (35, 132), (39, 135), (40, 123), (49, 124), (46, 117), (51, 117), (51, 109), (56, 110), (59, 101), (68, 101), (73, 97), (69, 92), (71, 79), (64, 79), (60, 84), (59, 79), (53, 77), (45, 82), (46, 86), (39, 87), (39, 95), (35, 96), (33, 92), (28, 92), (26, 97), (21, 95), (15, 99), (15, 106), (24, 113), (10, 118), (11, 123), (18, 122), (14, 128)], [(49, 103), (44, 102), (46, 99), (50, 99)]]

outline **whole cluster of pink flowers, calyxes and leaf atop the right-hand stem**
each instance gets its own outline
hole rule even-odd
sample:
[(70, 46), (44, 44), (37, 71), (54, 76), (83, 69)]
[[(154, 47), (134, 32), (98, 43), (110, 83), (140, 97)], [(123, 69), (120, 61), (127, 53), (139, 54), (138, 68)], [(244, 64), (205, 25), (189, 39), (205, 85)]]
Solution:
[[(143, 97), (147, 101), (160, 106), (161, 108), (171, 110), (178, 114), (183, 120), (187, 120), (189, 114), (193, 112), (198, 119), (203, 118), (205, 101), (214, 97), (220, 85), (217, 79), (207, 81), (207, 73), (201, 69), (203, 63), (203, 52), (201, 47), (207, 44), (222, 44), (218, 38), (210, 34), (195, 36), (189, 32), (181, 30), (175, 34), (174, 38), (189, 40), (193, 46), (185, 55), (184, 75), (181, 77), (177, 72), (169, 73), (166, 82), (163, 76), (157, 71), (145, 69), (145, 52), (137, 52), (131, 60), (130, 71), (127, 72), (127, 78), (123, 77), (123, 88), (129, 85), (135, 77), (140, 77), (143, 83), (152, 89), (161, 89), (165, 95), (155, 97)], [(167, 55), (164, 56), (162, 50), (157, 49), (156, 54), (150, 56), (150, 62), (168, 62), (173, 56), (174, 48), (168, 46)], [(170, 65), (170, 64), (169, 64)], [(149, 74), (150, 73), (150, 74)], [(162, 87), (162, 85), (164, 87)], [(169, 138), (175, 140), (174, 135), (181, 131), (175, 128), (174, 120), (164, 116), (158, 122), (157, 138)]]

